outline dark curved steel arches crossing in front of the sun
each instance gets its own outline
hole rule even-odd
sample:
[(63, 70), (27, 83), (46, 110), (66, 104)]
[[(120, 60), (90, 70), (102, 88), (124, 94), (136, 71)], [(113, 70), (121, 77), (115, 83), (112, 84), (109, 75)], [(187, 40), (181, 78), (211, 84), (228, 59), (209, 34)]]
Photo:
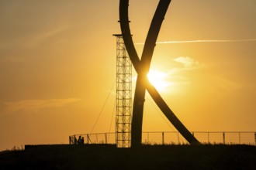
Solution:
[(175, 126), (175, 128), (182, 134), (182, 136), (189, 141), (192, 145), (199, 145), (200, 142), (188, 131), (187, 128), (178, 120), (178, 117), (171, 111), (157, 92), (155, 87), (147, 80), (147, 73), (150, 69), (150, 62), (154, 53), (154, 46), (157, 41), (157, 36), (161, 29), (161, 24), (164, 20), (164, 15), (168, 10), (168, 6), (171, 0), (160, 0), (157, 5), (157, 10), (152, 19), (147, 39), (144, 45), (144, 50), (141, 56), (141, 60), (137, 55), (137, 51), (133, 44), (133, 39), (130, 33), (130, 25), (128, 18), (129, 0), (119, 1), (119, 22), (123, 35), (123, 40), (126, 45), (127, 52), (133, 63), (135, 70), (138, 73), (137, 84), (133, 102), (133, 120), (132, 120), (132, 134), (131, 134), (131, 146), (138, 147), (141, 145), (142, 135), (142, 121), (144, 110), (144, 97), (146, 89), (154, 102), (161, 109), (168, 120)]

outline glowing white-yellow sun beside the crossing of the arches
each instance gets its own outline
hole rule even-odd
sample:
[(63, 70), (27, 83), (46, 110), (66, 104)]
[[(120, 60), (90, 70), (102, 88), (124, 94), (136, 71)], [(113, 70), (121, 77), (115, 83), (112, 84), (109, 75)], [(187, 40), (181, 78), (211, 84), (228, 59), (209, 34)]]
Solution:
[(157, 90), (166, 90), (170, 83), (166, 80), (167, 74), (159, 71), (152, 70), (147, 73), (147, 78), (156, 87)]

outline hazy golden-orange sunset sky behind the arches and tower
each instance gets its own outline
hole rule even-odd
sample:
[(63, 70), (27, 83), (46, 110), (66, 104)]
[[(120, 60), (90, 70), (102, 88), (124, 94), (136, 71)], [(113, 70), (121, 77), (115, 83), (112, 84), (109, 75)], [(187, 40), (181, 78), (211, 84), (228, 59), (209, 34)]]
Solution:
[[(139, 56), (157, 3), (130, 0)], [(150, 71), (189, 131), (256, 131), (255, 15), (254, 0), (172, 0)], [(0, 0), (0, 150), (115, 131), (118, 20), (118, 0)], [(143, 131), (176, 131), (148, 94)]]

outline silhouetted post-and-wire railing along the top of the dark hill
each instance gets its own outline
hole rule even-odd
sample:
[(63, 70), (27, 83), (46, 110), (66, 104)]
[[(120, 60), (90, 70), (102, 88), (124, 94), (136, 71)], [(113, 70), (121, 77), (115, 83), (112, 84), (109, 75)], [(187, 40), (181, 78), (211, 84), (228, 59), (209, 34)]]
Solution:
[[(256, 145), (254, 131), (194, 131), (192, 134), (202, 144)], [(78, 138), (84, 138), (85, 144), (116, 144), (116, 133), (74, 134), (69, 143), (78, 144)], [(146, 145), (185, 145), (189, 144), (178, 131), (142, 132), (142, 143)]]

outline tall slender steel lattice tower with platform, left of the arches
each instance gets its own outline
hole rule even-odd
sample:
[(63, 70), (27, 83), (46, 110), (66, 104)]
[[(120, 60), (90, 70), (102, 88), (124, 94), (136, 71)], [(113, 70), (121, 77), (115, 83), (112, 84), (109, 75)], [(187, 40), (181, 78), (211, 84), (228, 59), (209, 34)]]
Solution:
[(116, 36), (116, 147), (130, 148), (132, 63), (122, 35)]

